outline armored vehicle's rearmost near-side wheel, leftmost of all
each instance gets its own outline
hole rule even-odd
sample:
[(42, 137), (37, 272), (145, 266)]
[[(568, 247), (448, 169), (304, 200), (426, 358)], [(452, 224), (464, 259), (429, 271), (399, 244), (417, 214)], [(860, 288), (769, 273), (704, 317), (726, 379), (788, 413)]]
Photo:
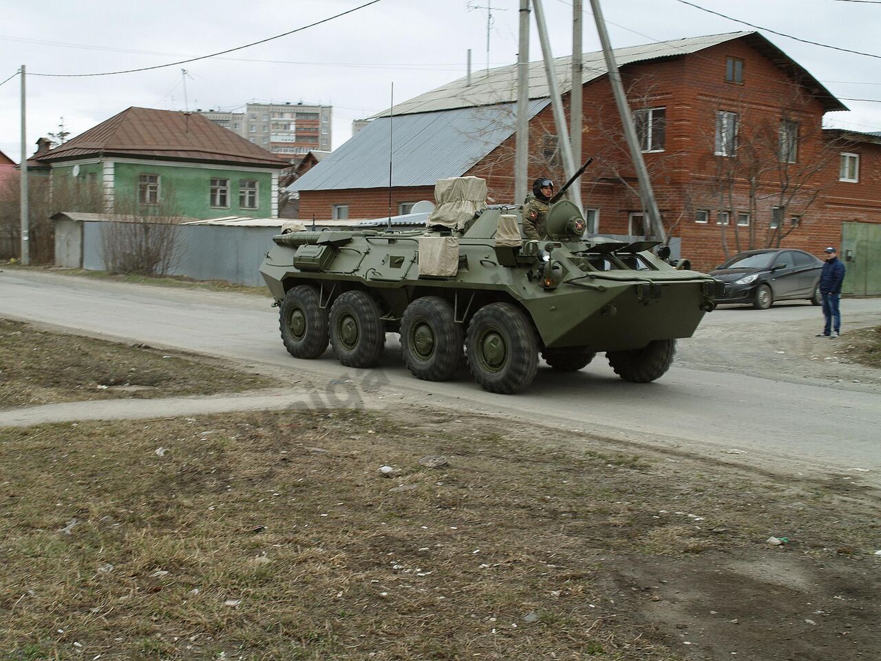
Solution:
[(285, 349), (295, 358), (318, 358), (328, 348), (328, 313), (315, 287), (300, 285), (285, 294), (279, 328)]

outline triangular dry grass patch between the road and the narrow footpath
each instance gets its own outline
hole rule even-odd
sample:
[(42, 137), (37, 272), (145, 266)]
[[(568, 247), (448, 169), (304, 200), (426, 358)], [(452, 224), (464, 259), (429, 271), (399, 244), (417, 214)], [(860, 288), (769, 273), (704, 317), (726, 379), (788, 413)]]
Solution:
[(270, 387), (204, 358), (41, 331), (0, 319), (0, 408)]

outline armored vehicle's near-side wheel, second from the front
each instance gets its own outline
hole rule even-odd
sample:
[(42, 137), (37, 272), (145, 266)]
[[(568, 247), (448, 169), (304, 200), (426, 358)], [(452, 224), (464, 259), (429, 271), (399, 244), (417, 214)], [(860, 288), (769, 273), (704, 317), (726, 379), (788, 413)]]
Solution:
[(462, 325), (453, 308), (437, 296), (411, 302), (401, 317), (401, 353), (416, 378), (446, 381), (462, 358)]

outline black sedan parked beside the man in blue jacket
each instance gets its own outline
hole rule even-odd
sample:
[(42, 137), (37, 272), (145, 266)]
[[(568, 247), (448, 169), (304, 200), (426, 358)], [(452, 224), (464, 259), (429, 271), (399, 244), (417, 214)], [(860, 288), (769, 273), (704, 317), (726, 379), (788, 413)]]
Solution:
[(751, 303), (766, 310), (775, 301), (806, 299), (820, 304), (820, 271), (823, 262), (794, 249), (747, 250), (710, 271), (725, 283), (717, 303)]

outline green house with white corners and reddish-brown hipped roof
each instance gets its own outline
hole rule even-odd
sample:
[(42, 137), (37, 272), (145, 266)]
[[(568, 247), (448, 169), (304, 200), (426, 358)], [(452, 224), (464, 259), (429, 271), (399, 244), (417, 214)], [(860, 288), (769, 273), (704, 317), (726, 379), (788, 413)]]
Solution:
[(34, 156), (49, 167), (53, 197), (91, 191), (108, 213), (196, 219), (278, 218), (278, 173), (288, 167), (202, 115), (152, 108), (123, 110)]

